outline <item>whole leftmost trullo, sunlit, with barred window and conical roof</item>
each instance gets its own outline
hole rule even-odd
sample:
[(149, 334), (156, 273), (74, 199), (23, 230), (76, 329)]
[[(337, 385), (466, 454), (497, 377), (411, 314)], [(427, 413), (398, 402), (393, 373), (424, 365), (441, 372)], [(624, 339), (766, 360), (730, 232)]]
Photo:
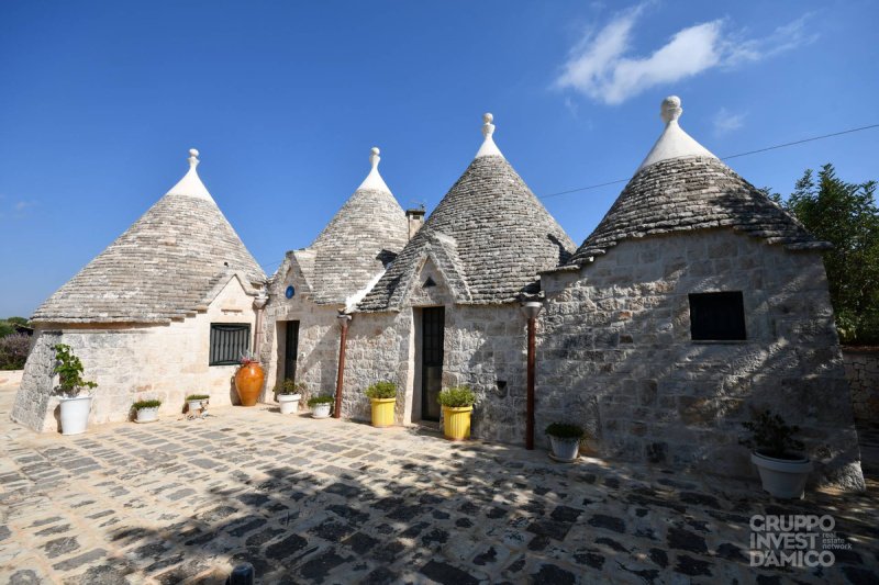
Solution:
[(124, 420), (138, 396), (179, 413), (190, 393), (235, 397), (231, 378), (254, 347), (265, 274), (216, 206), (190, 150), (189, 171), (34, 313), (12, 418), (56, 430), (56, 344), (98, 383), (90, 423)]

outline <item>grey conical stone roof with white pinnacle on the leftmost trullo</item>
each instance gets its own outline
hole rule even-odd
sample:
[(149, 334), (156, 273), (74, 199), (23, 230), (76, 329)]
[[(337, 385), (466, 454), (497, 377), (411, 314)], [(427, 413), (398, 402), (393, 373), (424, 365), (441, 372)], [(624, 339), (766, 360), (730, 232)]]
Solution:
[[(169, 323), (209, 304), (230, 279), (253, 290), (263, 270), (199, 179), (189, 172), (49, 296), (37, 323)], [(255, 291), (254, 291), (255, 292)]]

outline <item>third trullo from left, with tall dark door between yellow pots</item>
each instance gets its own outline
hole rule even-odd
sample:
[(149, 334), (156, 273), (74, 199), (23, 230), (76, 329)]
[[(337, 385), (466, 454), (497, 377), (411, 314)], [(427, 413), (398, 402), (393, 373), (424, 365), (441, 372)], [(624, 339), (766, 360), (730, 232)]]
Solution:
[[(483, 122), (472, 162), (358, 304), (352, 327), (366, 322), (377, 335), (353, 337), (352, 350), (372, 375), (403, 389), (400, 423), (437, 420), (439, 390), (468, 384), (479, 398), (474, 436), (522, 442), (521, 302), (539, 292), (538, 272), (565, 262), (574, 244), (501, 154), (491, 114)], [(381, 357), (372, 360), (377, 339)], [(346, 385), (346, 396), (358, 382)]]

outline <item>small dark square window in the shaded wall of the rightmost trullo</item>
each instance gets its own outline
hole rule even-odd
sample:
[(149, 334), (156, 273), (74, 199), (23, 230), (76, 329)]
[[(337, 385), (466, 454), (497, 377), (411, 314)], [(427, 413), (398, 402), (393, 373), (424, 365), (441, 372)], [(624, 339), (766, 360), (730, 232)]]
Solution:
[(693, 341), (741, 341), (745, 335), (742, 291), (690, 294)]

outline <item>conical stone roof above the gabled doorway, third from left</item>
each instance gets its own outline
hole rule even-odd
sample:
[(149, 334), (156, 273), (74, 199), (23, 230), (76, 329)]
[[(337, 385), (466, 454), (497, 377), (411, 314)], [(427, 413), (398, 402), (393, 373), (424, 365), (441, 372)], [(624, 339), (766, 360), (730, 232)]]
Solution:
[(513, 302), (538, 291), (537, 273), (564, 263), (574, 244), (491, 137), (422, 228), (358, 305), (400, 308), (422, 262), (431, 258), (460, 304)]

